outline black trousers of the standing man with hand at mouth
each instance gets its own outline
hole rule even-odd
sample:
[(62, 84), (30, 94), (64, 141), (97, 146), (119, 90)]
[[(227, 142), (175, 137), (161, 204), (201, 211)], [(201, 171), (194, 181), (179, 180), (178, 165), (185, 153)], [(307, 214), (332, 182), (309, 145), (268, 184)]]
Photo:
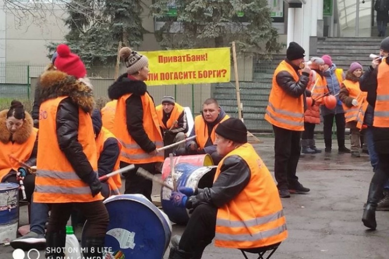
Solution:
[(297, 164), (300, 158), (301, 131), (287, 130), (273, 125), (275, 135), (274, 141), (274, 175), (277, 181), (277, 188), (288, 189), (294, 185), (299, 178), (296, 176)]

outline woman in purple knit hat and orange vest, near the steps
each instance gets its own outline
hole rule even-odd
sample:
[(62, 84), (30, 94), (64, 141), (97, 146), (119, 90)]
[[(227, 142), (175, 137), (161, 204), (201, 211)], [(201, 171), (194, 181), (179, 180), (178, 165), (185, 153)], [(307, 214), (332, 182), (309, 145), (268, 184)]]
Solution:
[[(363, 109), (363, 114), (367, 108), (366, 96), (359, 88), (359, 77), (362, 75), (362, 65), (354, 62), (346, 73), (346, 79), (340, 84), (339, 99), (343, 103), (345, 111), (346, 128), (351, 132), (351, 156), (360, 157), (360, 128), (357, 127), (358, 114)], [(362, 114), (362, 113), (361, 113)], [(363, 121), (363, 117), (360, 118)]]

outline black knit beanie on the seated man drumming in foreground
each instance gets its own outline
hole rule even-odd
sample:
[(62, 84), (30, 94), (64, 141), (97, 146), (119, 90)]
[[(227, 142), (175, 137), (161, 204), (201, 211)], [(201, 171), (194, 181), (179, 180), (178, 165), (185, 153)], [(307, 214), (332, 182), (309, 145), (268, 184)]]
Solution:
[(237, 143), (247, 142), (247, 128), (246, 125), (239, 119), (230, 118), (221, 122), (215, 132)]

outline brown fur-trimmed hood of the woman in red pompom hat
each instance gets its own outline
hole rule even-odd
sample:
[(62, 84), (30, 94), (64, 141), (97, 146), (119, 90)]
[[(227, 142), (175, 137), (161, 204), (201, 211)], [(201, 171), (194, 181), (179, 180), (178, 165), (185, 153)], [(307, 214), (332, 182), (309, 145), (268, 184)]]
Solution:
[(75, 104), (88, 113), (92, 111), (95, 104), (89, 86), (58, 70), (41, 74), (38, 87), (39, 103), (60, 96), (69, 96)]

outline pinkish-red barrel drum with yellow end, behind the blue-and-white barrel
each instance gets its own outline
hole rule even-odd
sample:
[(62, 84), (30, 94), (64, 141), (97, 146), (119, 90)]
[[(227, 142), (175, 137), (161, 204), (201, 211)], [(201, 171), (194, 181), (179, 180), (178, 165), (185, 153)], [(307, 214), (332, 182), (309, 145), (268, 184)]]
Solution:
[[(210, 154), (203, 155), (179, 155), (173, 157), (173, 164), (189, 163), (195, 166), (213, 166), (212, 157)], [(162, 166), (162, 180), (170, 174), (170, 158), (166, 157)]]

